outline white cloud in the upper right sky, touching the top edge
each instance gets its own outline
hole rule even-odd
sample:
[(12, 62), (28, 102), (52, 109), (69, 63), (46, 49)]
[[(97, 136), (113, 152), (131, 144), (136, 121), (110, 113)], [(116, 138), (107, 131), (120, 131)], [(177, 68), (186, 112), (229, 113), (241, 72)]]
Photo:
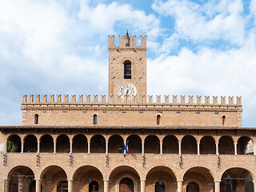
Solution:
[(199, 5), (188, 0), (155, 1), (152, 6), (159, 14), (170, 15), (180, 38), (195, 42), (223, 39), (242, 46), (245, 20), (241, 16), (242, 1), (216, 1)]

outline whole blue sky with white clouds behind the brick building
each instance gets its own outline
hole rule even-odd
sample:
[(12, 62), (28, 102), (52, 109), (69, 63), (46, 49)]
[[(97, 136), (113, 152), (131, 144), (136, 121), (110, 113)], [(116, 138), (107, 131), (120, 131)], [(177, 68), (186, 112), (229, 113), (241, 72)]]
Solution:
[(147, 35), (153, 95), (242, 96), (256, 127), (256, 0), (2, 0), (0, 125), (22, 94), (107, 94), (108, 35)]

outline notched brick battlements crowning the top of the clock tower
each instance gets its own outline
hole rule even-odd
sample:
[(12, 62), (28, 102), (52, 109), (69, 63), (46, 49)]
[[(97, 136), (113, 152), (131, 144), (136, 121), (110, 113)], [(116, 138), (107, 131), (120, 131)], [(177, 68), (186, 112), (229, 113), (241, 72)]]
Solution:
[(126, 35), (119, 35), (119, 46), (114, 46), (114, 35), (110, 36), (109, 35), (109, 48), (110, 49), (122, 49), (122, 48), (144, 48), (146, 49), (146, 35), (142, 36), (141, 35), (141, 46), (136, 46), (136, 35), (129, 36), (129, 41), (130, 44), (127, 46), (126, 43)]

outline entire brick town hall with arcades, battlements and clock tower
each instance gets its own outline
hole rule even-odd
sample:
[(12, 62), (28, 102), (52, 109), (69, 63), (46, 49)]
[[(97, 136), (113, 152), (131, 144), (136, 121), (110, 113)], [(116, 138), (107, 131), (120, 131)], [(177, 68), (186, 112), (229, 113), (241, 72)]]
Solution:
[[(242, 98), (148, 96), (146, 36), (109, 36), (108, 95), (23, 95), (0, 192), (255, 192)], [(166, 85), (168, 86), (168, 85)]]

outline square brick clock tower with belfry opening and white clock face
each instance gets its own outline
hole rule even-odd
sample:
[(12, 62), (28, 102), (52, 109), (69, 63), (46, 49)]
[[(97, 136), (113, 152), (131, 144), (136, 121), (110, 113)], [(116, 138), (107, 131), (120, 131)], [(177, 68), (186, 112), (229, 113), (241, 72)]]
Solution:
[(132, 99), (146, 96), (146, 36), (141, 36), (141, 46), (136, 46), (136, 36), (119, 36), (119, 46), (114, 46), (114, 35), (109, 36), (109, 93)]

